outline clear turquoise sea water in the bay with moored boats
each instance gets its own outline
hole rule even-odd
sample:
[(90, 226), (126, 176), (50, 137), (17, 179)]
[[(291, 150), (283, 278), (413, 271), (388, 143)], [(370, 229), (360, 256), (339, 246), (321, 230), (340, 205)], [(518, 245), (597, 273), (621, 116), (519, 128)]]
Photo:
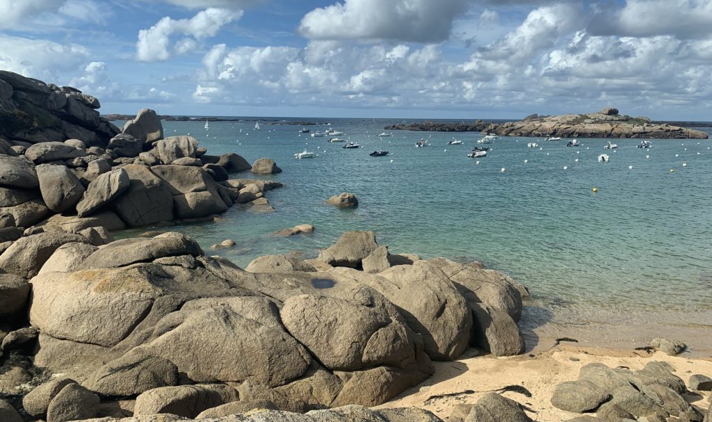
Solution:
[[(273, 179), (286, 185), (268, 192), (271, 213), (234, 208), (220, 222), (177, 230), (206, 251), (233, 239), (236, 248), (210, 253), (242, 266), (291, 250), (317, 255), (344, 231), (372, 230), (392, 252), (472, 258), (513, 276), (533, 295), (524, 324), (544, 334), (592, 327), (595, 338), (596, 327), (632, 324), (712, 338), (712, 141), (654, 140), (651, 149), (637, 149), (639, 141), (617, 139), (619, 148), (608, 151), (604, 139), (580, 139), (582, 147), (538, 139), (540, 150), (527, 147), (537, 139), (507, 137), (476, 164), (466, 154), (479, 134), (375, 136), (397, 122), (330, 120), (362, 149), (298, 134), (293, 125), (263, 122), (253, 130), (253, 122), (211, 122), (206, 131), (202, 122), (164, 122), (167, 136), (190, 133), (209, 154), (275, 159), (283, 173)], [(431, 146), (414, 147), (422, 137)], [(448, 145), (453, 137), (464, 144)], [(319, 156), (295, 159), (305, 147)], [(370, 157), (375, 149), (392, 154)], [(597, 162), (603, 153), (610, 162)], [(360, 206), (325, 204), (342, 191)], [(316, 232), (270, 236), (300, 223)], [(608, 335), (608, 343), (630, 337)]]

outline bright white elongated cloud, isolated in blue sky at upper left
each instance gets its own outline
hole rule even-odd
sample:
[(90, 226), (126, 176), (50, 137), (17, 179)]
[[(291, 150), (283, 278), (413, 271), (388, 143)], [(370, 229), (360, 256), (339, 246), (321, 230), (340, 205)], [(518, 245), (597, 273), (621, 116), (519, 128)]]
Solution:
[(140, 61), (168, 60), (172, 56), (171, 38), (174, 35), (184, 36), (174, 46), (174, 52), (187, 53), (197, 48), (197, 41), (216, 36), (223, 26), (240, 19), (242, 14), (241, 10), (209, 8), (199, 11), (191, 19), (166, 16), (151, 28), (139, 31), (136, 58)]

